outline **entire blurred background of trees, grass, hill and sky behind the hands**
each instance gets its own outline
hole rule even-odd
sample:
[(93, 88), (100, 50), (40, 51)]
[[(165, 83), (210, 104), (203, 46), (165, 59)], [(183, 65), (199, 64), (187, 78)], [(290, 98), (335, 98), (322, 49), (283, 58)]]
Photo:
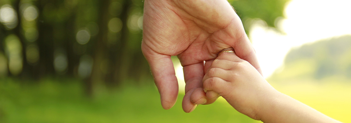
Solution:
[[(229, 0), (267, 81), (351, 122), (351, 3)], [(142, 0), (1, 0), (0, 122), (260, 122), (223, 98), (164, 110), (141, 53)]]

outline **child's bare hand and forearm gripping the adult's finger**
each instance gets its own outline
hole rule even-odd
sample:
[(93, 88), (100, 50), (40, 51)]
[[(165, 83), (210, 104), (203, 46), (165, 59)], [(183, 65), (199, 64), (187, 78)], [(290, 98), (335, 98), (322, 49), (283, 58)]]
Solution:
[(340, 123), (280, 93), (247, 61), (222, 53), (203, 79), (206, 96), (222, 96), (237, 111), (264, 123)]

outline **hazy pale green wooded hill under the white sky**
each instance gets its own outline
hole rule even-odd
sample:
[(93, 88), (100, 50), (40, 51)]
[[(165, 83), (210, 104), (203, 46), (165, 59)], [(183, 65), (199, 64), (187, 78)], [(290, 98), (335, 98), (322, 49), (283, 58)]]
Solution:
[(333, 37), (292, 49), (273, 78), (351, 78), (351, 35)]

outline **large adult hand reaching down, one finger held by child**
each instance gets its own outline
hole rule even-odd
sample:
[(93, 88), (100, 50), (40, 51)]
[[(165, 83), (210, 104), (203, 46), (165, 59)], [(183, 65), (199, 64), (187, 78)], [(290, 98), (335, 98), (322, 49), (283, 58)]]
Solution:
[(197, 104), (216, 100), (206, 97), (202, 79), (217, 54), (229, 47), (261, 73), (241, 20), (227, 0), (145, 0), (141, 49), (164, 109), (173, 107), (178, 96), (171, 56), (178, 55), (183, 66), (183, 110), (191, 112)]

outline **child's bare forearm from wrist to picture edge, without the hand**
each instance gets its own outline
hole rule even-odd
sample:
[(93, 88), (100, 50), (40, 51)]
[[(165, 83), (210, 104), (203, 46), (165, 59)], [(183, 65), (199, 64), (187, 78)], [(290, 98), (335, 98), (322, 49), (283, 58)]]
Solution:
[(261, 109), (264, 123), (341, 123), (282, 93)]

